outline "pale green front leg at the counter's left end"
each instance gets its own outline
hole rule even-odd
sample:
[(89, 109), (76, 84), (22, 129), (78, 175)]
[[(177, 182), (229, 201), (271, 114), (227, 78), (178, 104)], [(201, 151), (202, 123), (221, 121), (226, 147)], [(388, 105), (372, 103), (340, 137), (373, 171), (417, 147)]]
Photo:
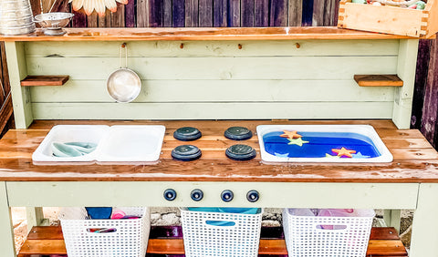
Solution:
[(5, 257), (16, 257), (14, 242), (14, 227), (12, 225), (11, 209), (6, 194), (6, 182), (0, 182), (0, 252)]

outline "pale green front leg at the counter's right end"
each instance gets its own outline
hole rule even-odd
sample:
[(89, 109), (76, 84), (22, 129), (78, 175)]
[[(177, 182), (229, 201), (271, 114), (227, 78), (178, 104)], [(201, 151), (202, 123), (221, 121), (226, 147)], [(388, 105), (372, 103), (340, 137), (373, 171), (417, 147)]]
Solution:
[(412, 221), (409, 256), (438, 256), (438, 184), (421, 184)]

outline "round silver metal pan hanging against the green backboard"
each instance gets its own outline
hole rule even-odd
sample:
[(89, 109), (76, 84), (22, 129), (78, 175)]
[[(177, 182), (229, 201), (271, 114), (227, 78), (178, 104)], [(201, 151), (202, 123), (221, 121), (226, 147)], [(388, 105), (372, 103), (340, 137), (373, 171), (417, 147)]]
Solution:
[(117, 102), (129, 103), (140, 94), (140, 77), (129, 68), (120, 68), (108, 77), (107, 90)]

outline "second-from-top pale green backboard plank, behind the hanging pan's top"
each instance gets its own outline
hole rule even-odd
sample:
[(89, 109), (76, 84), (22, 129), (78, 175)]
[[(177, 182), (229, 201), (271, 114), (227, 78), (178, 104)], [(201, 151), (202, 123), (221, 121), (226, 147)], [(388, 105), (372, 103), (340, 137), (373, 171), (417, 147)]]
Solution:
[[(394, 74), (397, 57), (131, 57), (143, 79), (352, 79), (355, 74)], [(118, 57), (28, 57), (30, 75), (107, 79)]]

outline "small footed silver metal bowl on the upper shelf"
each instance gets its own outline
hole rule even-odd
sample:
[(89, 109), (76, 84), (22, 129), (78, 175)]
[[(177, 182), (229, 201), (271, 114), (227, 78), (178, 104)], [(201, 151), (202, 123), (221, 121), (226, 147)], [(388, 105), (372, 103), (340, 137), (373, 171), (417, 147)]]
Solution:
[(45, 28), (47, 35), (63, 35), (66, 32), (62, 30), (63, 27), (68, 26), (73, 14), (70, 13), (47, 13), (35, 16), (35, 22)]

